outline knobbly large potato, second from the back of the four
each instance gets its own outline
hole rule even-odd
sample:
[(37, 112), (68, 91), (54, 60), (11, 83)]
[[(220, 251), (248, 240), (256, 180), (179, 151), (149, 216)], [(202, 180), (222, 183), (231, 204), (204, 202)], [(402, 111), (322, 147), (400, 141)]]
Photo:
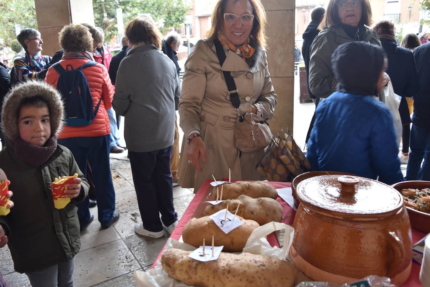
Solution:
[(237, 210), (237, 215), (244, 219), (256, 221), (259, 225), (264, 225), (267, 222), (282, 221), (282, 207), (272, 198), (250, 198), (246, 195), (240, 195), (236, 199), (228, 199), (217, 205), (208, 205), (205, 208), (205, 215), (212, 215), (221, 209), (227, 207), (231, 213), (236, 212), (237, 205), (240, 204)]

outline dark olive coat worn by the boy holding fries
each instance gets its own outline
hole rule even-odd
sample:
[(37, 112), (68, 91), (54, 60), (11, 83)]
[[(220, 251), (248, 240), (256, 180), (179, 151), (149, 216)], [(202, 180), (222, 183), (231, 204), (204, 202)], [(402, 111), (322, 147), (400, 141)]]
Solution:
[[(58, 145), (46, 163), (33, 167), (8, 147), (0, 152), (0, 168), (10, 181), (14, 207), (0, 223), (8, 235), (9, 250), (15, 271), (34, 272), (60, 262), (70, 261), (80, 249), (80, 226), (77, 207), (88, 194), (89, 185), (73, 154)], [(51, 183), (58, 177), (77, 173), (81, 191), (63, 209), (56, 209)]]

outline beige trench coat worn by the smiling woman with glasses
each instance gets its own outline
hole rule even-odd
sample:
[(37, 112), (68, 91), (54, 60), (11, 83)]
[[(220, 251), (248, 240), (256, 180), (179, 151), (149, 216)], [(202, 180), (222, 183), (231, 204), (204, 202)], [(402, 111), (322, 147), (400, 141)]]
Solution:
[[(253, 43), (251, 43), (252, 46)], [(258, 45), (255, 45), (258, 46)], [(256, 49), (252, 64), (248, 65), (240, 56), (223, 45), (226, 60), (222, 71), (230, 71), (236, 83), (240, 112), (252, 112), (258, 103), (266, 120), (273, 117), (276, 94), (273, 91), (267, 68), (266, 51)], [(250, 68), (251, 66), (251, 68)], [(194, 187), (194, 192), (206, 179), (217, 180), (231, 177), (234, 180), (259, 180), (255, 165), (263, 156), (263, 150), (242, 153), (235, 148), (234, 125), (237, 111), (230, 102), (227, 84), (212, 40), (199, 40), (185, 63), (181, 98), (179, 99), (180, 126), (184, 131), (179, 168), (179, 185)], [(198, 173), (187, 163), (187, 136), (191, 131), (200, 131), (206, 146), (206, 163), (200, 162), (203, 171)]]

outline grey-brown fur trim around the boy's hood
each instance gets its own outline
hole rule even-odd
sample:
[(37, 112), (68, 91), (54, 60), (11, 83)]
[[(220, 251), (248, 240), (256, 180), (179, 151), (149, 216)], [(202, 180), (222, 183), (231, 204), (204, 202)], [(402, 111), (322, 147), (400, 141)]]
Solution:
[(48, 102), (51, 136), (57, 136), (64, 124), (64, 108), (61, 95), (48, 83), (38, 80), (28, 80), (16, 85), (3, 102), (1, 124), (3, 134), (11, 141), (19, 137), (18, 113), (24, 99), (41, 96)]

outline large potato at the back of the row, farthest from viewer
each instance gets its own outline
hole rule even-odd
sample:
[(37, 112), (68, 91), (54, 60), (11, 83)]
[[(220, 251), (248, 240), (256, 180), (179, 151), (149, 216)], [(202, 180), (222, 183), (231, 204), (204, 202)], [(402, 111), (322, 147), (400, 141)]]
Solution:
[[(222, 198), (231, 199), (238, 198), (239, 195), (245, 194), (252, 198), (273, 198), (278, 197), (278, 192), (273, 185), (266, 182), (234, 182), (234, 183), (223, 183)], [(219, 187), (219, 195), (221, 196), (221, 185)], [(216, 200), (216, 187), (212, 191), (213, 199)]]

